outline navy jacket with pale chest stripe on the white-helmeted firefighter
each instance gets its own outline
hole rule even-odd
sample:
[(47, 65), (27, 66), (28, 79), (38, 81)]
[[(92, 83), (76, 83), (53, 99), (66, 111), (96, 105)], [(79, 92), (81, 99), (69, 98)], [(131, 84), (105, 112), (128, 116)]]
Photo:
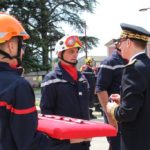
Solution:
[[(78, 72), (74, 81), (60, 64), (48, 73), (42, 84), (41, 113), (89, 119), (88, 82)], [(74, 145), (69, 150), (88, 150), (85, 143)], [(85, 148), (87, 147), (87, 148)], [(66, 149), (68, 150), (68, 149)]]

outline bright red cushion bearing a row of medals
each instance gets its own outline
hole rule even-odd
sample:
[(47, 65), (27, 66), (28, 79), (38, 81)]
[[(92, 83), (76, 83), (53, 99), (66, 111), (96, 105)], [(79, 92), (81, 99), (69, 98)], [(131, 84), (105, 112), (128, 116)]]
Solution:
[(117, 130), (106, 123), (56, 115), (39, 115), (37, 130), (60, 140), (117, 135)]

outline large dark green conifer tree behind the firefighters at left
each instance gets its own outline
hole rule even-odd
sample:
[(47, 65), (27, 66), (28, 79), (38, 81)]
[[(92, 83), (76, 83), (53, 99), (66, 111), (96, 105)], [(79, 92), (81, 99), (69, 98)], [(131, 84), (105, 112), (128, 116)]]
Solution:
[[(83, 33), (85, 21), (80, 18), (80, 15), (85, 11), (93, 13), (96, 5), (96, 0), (1, 1), (0, 11), (9, 11), (16, 16), (31, 36), (27, 41), (28, 48), (23, 62), (25, 70), (28, 72), (51, 69), (50, 51), (54, 50), (56, 41), (64, 35), (61, 23), (69, 24)], [(98, 42), (94, 37), (81, 37), (81, 40), (90, 49)]]

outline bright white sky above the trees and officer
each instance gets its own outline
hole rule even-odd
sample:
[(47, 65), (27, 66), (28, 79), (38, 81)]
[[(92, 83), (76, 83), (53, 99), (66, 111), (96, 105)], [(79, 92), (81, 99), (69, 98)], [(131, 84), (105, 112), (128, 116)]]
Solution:
[[(113, 38), (118, 38), (121, 33), (120, 23), (139, 25), (150, 31), (150, 9), (139, 11), (141, 8), (150, 7), (150, 0), (97, 0), (99, 4), (94, 14), (84, 13), (82, 18), (87, 24), (87, 36), (99, 39), (97, 48), (88, 55), (106, 56), (104, 46)], [(64, 27), (65, 34), (76, 34), (73, 29)], [(79, 56), (83, 56), (80, 54)]]

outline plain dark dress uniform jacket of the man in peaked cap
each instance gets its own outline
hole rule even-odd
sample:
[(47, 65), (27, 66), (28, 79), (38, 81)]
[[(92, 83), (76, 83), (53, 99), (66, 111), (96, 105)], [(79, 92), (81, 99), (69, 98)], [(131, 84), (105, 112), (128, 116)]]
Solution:
[(121, 127), (121, 150), (150, 150), (150, 60), (146, 54), (135, 59), (124, 69), (115, 118)]

